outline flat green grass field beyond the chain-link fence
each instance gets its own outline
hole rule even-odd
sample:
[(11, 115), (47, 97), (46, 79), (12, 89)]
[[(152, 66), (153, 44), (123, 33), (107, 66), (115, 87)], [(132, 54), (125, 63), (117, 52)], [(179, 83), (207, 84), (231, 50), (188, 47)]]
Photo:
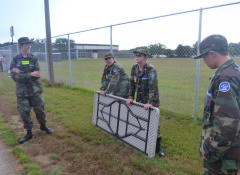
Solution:
[[(135, 59), (117, 59), (130, 75)], [(164, 58), (149, 59), (158, 72), (161, 110), (193, 117), (196, 91), (196, 63), (194, 59)], [(72, 86), (90, 90), (99, 90), (104, 68), (103, 59), (73, 60)], [(202, 117), (203, 98), (208, 88), (209, 77), (214, 73), (203, 61), (200, 68), (198, 96), (198, 118)], [(46, 77), (46, 65), (41, 63), (41, 74)], [(69, 85), (68, 61), (54, 62), (55, 81)]]

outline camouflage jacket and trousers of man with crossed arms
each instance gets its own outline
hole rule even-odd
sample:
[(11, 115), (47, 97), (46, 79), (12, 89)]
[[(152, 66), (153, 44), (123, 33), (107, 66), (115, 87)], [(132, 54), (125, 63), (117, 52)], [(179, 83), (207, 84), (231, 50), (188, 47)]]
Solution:
[[(12, 68), (18, 68), (20, 73), (13, 72)], [(32, 129), (33, 122), (30, 116), (32, 108), (38, 122), (45, 126), (46, 117), (40, 78), (30, 75), (33, 71), (39, 71), (38, 58), (31, 54), (28, 54), (26, 58), (17, 55), (11, 62), (10, 70), (11, 77), (16, 82), (17, 109), (24, 122), (24, 128)]]

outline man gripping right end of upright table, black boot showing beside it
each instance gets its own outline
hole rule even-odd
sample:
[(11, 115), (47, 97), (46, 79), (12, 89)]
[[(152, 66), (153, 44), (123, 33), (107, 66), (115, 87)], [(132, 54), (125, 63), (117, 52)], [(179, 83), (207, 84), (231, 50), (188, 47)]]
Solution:
[[(135, 93), (137, 93), (136, 101), (143, 103), (144, 109), (148, 110), (151, 106), (158, 108), (160, 106), (160, 100), (157, 71), (152, 65), (146, 62), (148, 54), (146, 49), (137, 49), (134, 53), (136, 54), (137, 64), (134, 64), (131, 70), (129, 99), (127, 100), (127, 105), (131, 105)], [(165, 154), (160, 145), (161, 139), (159, 125), (156, 152), (159, 156), (164, 157)]]

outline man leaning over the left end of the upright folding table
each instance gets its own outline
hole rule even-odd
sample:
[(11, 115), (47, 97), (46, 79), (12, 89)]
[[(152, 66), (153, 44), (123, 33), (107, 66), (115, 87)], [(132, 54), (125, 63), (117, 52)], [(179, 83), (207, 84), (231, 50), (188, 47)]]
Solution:
[(118, 64), (112, 53), (104, 56), (106, 66), (102, 75), (100, 94), (112, 94), (128, 98), (129, 77), (124, 68)]

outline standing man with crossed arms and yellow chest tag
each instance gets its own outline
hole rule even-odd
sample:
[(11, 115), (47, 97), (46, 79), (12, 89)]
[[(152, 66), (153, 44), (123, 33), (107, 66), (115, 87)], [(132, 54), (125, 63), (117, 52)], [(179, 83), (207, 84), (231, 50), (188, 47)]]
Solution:
[(40, 123), (40, 129), (48, 134), (52, 134), (53, 130), (46, 126), (39, 64), (37, 57), (30, 54), (31, 41), (27, 37), (22, 37), (18, 44), (21, 54), (13, 58), (10, 70), (11, 77), (16, 82), (17, 109), (27, 130), (26, 136), (18, 140), (22, 144), (32, 138), (33, 122), (30, 116), (32, 108)]

